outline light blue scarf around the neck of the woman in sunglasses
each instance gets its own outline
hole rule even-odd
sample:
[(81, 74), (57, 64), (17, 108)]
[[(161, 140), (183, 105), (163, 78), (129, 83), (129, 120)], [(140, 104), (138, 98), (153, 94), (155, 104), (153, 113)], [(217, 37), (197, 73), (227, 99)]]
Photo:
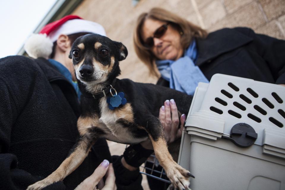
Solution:
[(194, 64), (197, 54), (196, 42), (193, 40), (185, 50), (184, 56), (178, 60), (156, 61), (156, 66), (162, 78), (169, 81), (170, 88), (188, 95), (194, 95), (199, 82), (209, 83), (200, 68)]

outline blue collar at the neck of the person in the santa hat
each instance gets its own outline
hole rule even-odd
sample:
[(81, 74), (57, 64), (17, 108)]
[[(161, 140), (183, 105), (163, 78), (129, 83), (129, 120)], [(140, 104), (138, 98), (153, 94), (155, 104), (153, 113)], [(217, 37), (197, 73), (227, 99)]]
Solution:
[(80, 89), (78, 87), (78, 84), (77, 82), (74, 82), (72, 80), (72, 75), (71, 73), (69, 72), (69, 70), (63, 66), (61, 63), (59, 63), (58, 61), (55, 61), (53, 59), (48, 59), (48, 61), (56, 67), (56, 69), (73, 85), (76, 93), (77, 93), (77, 96), (78, 96), (78, 99), (80, 100), (80, 95), (81, 95), (81, 92), (80, 92)]

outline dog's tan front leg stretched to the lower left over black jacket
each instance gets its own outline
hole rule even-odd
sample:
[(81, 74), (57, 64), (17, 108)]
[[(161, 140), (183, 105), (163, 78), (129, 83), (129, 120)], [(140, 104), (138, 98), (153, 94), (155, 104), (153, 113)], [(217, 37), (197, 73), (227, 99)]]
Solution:
[(86, 133), (80, 137), (75, 148), (71, 150), (69, 156), (60, 164), (56, 171), (45, 179), (28, 186), (27, 190), (43, 189), (52, 183), (62, 181), (83, 162), (92, 145), (103, 134), (104, 132), (97, 127), (86, 129)]

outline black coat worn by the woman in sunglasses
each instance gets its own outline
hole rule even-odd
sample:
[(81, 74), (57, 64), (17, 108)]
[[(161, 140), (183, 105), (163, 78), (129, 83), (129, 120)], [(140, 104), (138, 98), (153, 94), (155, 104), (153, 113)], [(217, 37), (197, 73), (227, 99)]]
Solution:
[[(216, 73), (285, 84), (285, 41), (249, 28), (221, 29), (196, 39), (199, 66), (210, 81)], [(158, 85), (169, 87), (160, 78)]]

